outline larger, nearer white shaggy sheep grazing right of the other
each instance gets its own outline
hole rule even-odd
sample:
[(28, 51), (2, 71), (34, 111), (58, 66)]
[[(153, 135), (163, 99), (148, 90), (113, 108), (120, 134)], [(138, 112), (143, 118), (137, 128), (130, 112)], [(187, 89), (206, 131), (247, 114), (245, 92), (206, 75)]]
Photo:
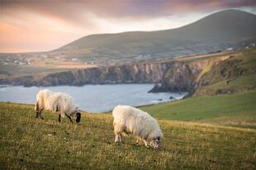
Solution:
[(116, 144), (121, 142), (121, 135), (133, 134), (137, 139), (137, 145), (143, 140), (146, 148), (149, 148), (149, 145), (153, 145), (154, 149), (159, 148), (163, 133), (158, 122), (149, 113), (138, 108), (118, 105), (113, 109), (112, 116)]

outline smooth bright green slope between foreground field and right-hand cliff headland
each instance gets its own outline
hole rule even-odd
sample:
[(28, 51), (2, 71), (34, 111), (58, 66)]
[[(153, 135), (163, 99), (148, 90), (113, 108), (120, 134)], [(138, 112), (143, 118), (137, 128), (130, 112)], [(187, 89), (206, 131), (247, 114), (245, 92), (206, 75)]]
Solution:
[(141, 107), (154, 117), (256, 128), (256, 90)]

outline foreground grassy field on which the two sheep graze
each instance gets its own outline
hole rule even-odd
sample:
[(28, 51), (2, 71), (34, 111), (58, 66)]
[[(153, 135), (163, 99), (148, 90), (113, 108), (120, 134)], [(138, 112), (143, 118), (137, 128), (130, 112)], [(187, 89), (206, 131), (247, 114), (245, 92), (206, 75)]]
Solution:
[[(188, 100), (189, 101), (189, 100)], [(175, 108), (175, 107), (174, 107)], [(79, 125), (33, 106), (0, 103), (0, 168), (10, 169), (254, 169), (256, 131), (191, 122), (159, 121), (159, 150), (114, 144), (109, 114), (83, 113)]]

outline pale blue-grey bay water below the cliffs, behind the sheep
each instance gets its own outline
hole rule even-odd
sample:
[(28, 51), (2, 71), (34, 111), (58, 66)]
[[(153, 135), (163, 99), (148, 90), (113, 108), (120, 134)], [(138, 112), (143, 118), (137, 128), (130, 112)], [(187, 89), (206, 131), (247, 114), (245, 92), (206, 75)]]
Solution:
[[(69, 93), (79, 109), (90, 113), (110, 111), (118, 104), (140, 106), (182, 99), (185, 94), (177, 93), (147, 93), (153, 88), (152, 84), (128, 85), (84, 85), (77, 86), (50, 86), (49, 90)], [(13, 103), (36, 103), (36, 94), (44, 87), (0, 86), (0, 101)]]

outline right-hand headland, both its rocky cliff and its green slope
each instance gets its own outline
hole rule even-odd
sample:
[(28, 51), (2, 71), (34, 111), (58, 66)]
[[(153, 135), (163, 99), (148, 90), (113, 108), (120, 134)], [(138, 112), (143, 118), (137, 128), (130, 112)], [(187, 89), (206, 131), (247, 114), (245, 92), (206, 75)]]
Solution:
[(216, 57), (183, 57), (182, 66), (168, 67), (162, 84), (156, 85), (153, 91), (189, 91), (193, 96), (200, 96), (254, 90), (255, 55), (256, 48), (249, 48)]

